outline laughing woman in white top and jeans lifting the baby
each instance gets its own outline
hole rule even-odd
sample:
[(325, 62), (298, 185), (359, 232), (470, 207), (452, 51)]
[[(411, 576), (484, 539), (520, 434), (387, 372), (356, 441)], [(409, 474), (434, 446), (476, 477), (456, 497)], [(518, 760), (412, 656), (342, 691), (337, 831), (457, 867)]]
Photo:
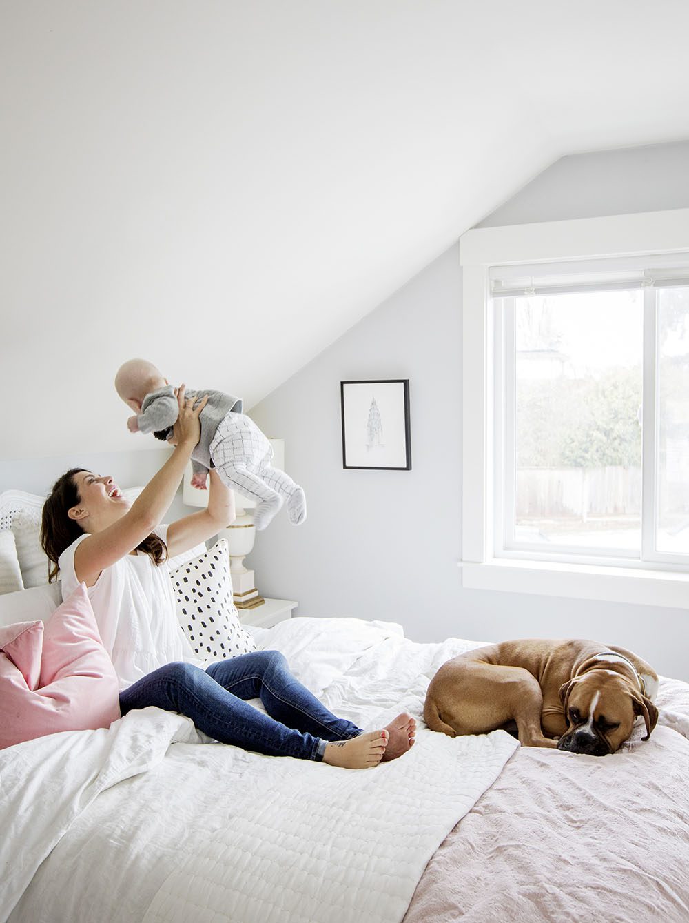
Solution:
[[(157, 705), (187, 715), (208, 737), (271, 756), (324, 761), (363, 769), (410, 749), (415, 729), (408, 713), (364, 733), (327, 711), (292, 677), (277, 651), (257, 651), (204, 669), (177, 621), (165, 566), (234, 519), (232, 492), (210, 473), (208, 509), (165, 528), (172, 503), (200, 437), (206, 399), (177, 393), (179, 418), (172, 456), (131, 508), (110, 476), (81, 469), (53, 486), (42, 515), (42, 546), (62, 578), (63, 598), (86, 583), (93, 611), (120, 679), (120, 708)], [(260, 698), (267, 714), (246, 700)]]

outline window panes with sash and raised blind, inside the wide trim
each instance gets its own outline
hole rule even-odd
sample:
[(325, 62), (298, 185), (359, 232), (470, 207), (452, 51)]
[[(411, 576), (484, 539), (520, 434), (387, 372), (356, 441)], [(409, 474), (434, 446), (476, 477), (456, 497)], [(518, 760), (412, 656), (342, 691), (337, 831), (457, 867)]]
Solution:
[(496, 554), (689, 564), (689, 254), (672, 261), (490, 270)]

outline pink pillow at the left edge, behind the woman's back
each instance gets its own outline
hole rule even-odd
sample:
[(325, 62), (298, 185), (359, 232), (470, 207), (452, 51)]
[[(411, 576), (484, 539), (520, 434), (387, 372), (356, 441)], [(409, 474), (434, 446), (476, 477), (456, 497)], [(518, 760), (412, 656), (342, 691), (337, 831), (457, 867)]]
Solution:
[(0, 749), (119, 717), (117, 676), (84, 583), (45, 624), (0, 629)]

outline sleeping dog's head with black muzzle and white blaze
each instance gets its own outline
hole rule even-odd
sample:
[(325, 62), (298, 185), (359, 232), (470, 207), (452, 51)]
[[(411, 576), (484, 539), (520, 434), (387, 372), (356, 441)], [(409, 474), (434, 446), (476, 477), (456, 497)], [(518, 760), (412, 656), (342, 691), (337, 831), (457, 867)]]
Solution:
[(647, 740), (658, 721), (658, 709), (636, 683), (613, 670), (590, 670), (560, 687), (567, 729), (558, 749), (591, 756), (614, 753), (631, 735), (643, 714)]

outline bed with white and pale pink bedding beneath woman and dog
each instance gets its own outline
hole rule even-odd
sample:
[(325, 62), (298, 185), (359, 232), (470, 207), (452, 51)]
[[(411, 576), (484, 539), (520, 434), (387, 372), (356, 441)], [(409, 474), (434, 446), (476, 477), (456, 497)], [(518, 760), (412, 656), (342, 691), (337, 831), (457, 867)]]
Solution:
[[(0, 624), (58, 599), (0, 596)], [(435, 670), (482, 641), (353, 617), (252, 631), (359, 725), (410, 710), (416, 746), (350, 772), (150, 708), (0, 750), (1, 921), (689, 919), (689, 685), (661, 677), (649, 740), (587, 757), (425, 728)]]

